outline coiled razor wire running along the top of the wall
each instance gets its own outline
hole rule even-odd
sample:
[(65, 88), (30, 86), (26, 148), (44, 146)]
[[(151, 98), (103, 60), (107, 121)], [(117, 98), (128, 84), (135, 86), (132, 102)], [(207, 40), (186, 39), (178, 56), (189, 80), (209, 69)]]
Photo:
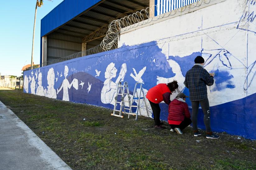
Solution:
[[(168, 0), (168, 3), (170, 3), (171, 1), (172, 0)], [(160, 7), (162, 8), (164, 7), (164, 5), (160, 5), (160, 7), (158, 5), (147, 7), (146, 9), (137, 11), (133, 14), (130, 14), (129, 16), (125, 16), (121, 19), (111, 21), (111, 23), (108, 26), (106, 36), (103, 38), (102, 42), (99, 45), (92, 47), (86, 51), (77, 52), (69, 56), (64, 56), (58, 59), (53, 59), (47, 62), (43, 62), (40, 64), (40, 66), (51, 65), (58, 62), (79, 58), (82, 56), (88, 56), (91, 54), (96, 54), (103, 51), (116, 49), (118, 48), (118, 40), (122, 32), (127, 31), (129, 29), (134, 29), (136, 27), (148, 24), (150, 22), (154, 22), (154, 21), (166, 18), (168, 16), (174, 16), (175, 14), (177, 14), (177, 12), (179, 13), (184, 12), (187, 8), (192, 9), (195, 7), (200, 7), (203, 4), (209, 4), (211, 1), (212, 0), (199, 0), (197, 2), (188, 4), (184, 7), (180, 7), (171, 11), (165, 10), (163, 14), (154, 16), (154, 17), (149, 17), (149, 13), (154, 14), (154, 10), (158, 11), (158, 8)], [(174, 4), (171, 4), (171, 7), (172, 5)], [(31, 67), (28, 69), (31, 69)]]

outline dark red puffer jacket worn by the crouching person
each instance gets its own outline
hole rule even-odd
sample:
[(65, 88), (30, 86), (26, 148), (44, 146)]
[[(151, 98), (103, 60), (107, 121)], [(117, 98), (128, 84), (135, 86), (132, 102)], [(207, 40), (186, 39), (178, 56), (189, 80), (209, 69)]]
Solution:
[(190, 118), (190, 113), (188, 110), (188, 105), (186, 102), (179, 101), (177, 99), (174, 99), (169, 104), (168, 109), (169, 115), (168, 115), (168, 123), (169, 124), (175, 124), (179, 125), (184, 119)]

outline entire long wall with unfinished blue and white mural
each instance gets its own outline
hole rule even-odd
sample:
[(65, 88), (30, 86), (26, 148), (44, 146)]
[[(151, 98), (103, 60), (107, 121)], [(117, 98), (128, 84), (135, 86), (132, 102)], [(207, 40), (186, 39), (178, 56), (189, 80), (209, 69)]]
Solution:
[[(121, 34), (118, 49), (26, 71), (24, 92), (113, 109), (120, 81), (127, 81), (130, 91), (141, 82), (146, 94), (156, 84), (175, 79), (189, 95), (184, 77), (194, 58), (202, 55), (205, 69), (216, 75), (208, 87), (212, 130), (256, 139), (256, 2), (230, 2)], [(163, 31), (154, 33), (156, 28)], [(152, 113), (148, 101), (140, 102), (143, 115), (146, 107)], [(167, 120), (168, 106), (160, 106), (160, 119)], [(203, 128), (201, 111), (198, 116)]]

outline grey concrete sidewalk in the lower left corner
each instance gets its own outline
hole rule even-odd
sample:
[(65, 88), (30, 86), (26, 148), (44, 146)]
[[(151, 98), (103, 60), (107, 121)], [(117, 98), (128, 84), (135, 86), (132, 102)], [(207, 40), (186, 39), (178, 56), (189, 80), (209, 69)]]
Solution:
[(0, 101), (0, 169), (71, 169)]

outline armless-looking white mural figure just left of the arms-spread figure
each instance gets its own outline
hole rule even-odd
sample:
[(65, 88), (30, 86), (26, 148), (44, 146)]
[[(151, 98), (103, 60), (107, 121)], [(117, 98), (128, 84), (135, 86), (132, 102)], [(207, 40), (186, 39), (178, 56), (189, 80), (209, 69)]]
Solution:
[(54, 74), (54, 69), (50, 68), (48, 73), (47, 73), (47, 91), (45, 91), (45, 97), (49, 98), (57, 98), (56, 95), (56, 90), (54, 89), (54, 80), (55, 80), (55, 74)]

